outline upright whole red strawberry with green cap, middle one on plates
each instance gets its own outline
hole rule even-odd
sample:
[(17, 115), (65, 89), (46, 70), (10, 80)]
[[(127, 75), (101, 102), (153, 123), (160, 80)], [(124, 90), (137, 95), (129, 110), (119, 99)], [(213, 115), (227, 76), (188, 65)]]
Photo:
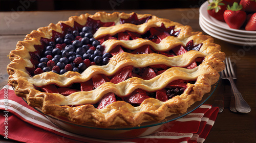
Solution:
[(242, 5), (234, 3), (232, 7), (227, 6), (224, 12), (224, 19), (227, 25), (232, 29), (240, 29), (246, 19), (246, 13), (242, 11)]

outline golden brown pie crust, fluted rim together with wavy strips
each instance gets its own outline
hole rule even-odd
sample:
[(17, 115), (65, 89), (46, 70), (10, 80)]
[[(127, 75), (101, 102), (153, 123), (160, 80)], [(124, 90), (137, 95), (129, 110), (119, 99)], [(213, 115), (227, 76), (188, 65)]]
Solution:
[[(48, 27), (39, 28), (32, 31), (26, 36), (24, 41), (18, 41), (16, 50), (10, 52), (11, 63), (7, 66), (9, 74), (9, 84), (15, 88), (15, 93), (19, 97), (27, 99), (32, 107), (41, 108), (42, 112), (54, 116), (67, 117), (71, 122), (77, 124), (93, 123), (97, 126), (109, 127), (112, 125), (138, 126), (145, 121), (161, 121), (166, 116), (186, 112), (187, 108), (200, 101), (203, 95), (210, 91), (210, 86), (219, 79), (219, 72), (223, 70), (225, 54), (220, 52), (220, 45), (213, 43), (210, 36), (202, 35), (201, 32), (193, 32), (191, 27), (183, 26), (180, 23), (170, 21), (168, 19), (158, 18), (154, 15), (137, 14), (138, 18), (152, 16), (142, 25), (132, 25), (125, 23), (120, 25), (119, 19), (127, 19), (132, 14), (114, 12), (112, 14), (105, 12), (97, 12), (94, 15), (84, 14), (80, 16), (72, 16), (68, 21), (59, 21), (56, 25), (51, 23)], [(150, 40), (106, 40), (103, 45), (105, 51), (108, 52), (115, 45), (122, 45), (127, 49), (137, 49), (142, 45), (151, 45), (156, 50), (171, 50), (177, 45), (185, 45), (188, 41), (194, 40), (195, 44), (203, 43), (200, 52), (189, 51), (183, 55), (175, 57), (166, 57), (159, 54), (133, 55), (129, 53), (121, 53), (112, 57), (109, 64), (105, 66), (90, 66), (78, 74), (74, 71), (68, 71), (66, 74), (58, 75), (53, 72), (42, 73), (34, 77), (30, 77), (25, 67), (33, 67), (30, 61), (29, 52), (34, 52), (34, 45), (39, 45), (40, 38), (51, 39), (52, 31), (61, 33), (60, 23), (65, 23), (73, 27), (74, 21), (80, 25), (85, 25), (87, 17), (102, 22), (116, 23), (113, 27), (101, 27), (94, 34), (99, 38), (104, 35), (114, 35), (118, 32), (129, 30), (137, 33), (144, 33), (152, 27), (160, 27), (164, 23), (165, 27), (175, 26), (175, 30), (181, 30), (178, 37), (168, 36), (159, 44)], [(145, 58), (146, 57), (146, 58)], [(205, 57), (202, 64), (194, 69), (181, 68), (189, 65), (197, 57)], [(153, 61), (153, 62), (152, 62)], [(179, 62), (177, 62), (179, 61)], [(54, 83), (59, 86), (67, 86), (74, 82), (85, 82), (97, 74), (113, 75), (124, 66), (134, 65), (136, 67), (145, 67), (152, 64), (165, 64), (173, 67), (166, 70), (163, 74), (151, 79), (142, 80), (139, 78), (131, 78), (118, 84), (104, 83), (92, 91), (80, 91), (64, 97), (58, 93), (40, 92), (34, 88), (36, 86), (44, 86)], [(195, 84), (187, 84), (187, 88), (183, 94), (161, 102), (157, 99), (146, 99), (140, 106), (133, 107), (131, 104), (118, 101), (106, 106), (103, 109), (96, 109), (88, 103), (97, 103), (104, 93), (114, 92), (119, 96), (125, 96), (137, 88), (146, 91), (156, 91), (164, 88), (167, 83), (177, 79), (196, 80)], [(152, 86), (159, 85), (159, 86)], [(86, 97), (86, 98), (84, 98)], [(68, 105), (81, 105), (70, 107)]]

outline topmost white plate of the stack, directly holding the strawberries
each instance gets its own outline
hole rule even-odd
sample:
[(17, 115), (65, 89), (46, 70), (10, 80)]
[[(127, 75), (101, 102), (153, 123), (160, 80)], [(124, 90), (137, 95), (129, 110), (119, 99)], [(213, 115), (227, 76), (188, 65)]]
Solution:
[(227, 25), (227, 23), (219, 21), (215, 19), (214, 17), (211, 17), (208, 12), (207, 12), (207, 6), (208, 6), (208, 1), (206, 1), (199, 9), (200, 14), (206, 20), (207, 22), (211, 23), (212, 25), (225, 29), (234, 33), (240, 33), (240, 34), (247, 34), (247, 35), (256, 35), (256, 31), (246, 31), (246, 30), (238, 30), (238, 29), (231, 29)]

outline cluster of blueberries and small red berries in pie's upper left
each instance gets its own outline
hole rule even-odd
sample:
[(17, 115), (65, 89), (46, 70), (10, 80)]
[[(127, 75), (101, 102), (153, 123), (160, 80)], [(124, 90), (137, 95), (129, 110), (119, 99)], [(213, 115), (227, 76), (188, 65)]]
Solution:
[(112, 55), (103, 51), (104, 47), (93, 38), (92, 28), (83, 27), (80, 32), (74, 30), (49, 42), (34, 74), (53, 71), (62, 75), (69, 70), (82, 73), (90, 65), (108, 64)]

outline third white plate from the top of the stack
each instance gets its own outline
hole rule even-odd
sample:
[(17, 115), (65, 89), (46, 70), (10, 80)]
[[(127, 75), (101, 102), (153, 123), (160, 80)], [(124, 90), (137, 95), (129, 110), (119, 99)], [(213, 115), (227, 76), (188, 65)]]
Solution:
[(212, 26), (212, 25), (208, 25), (207, 22), (204, 21), (204, 19), (202, 17), (199, 17), (199, 20), (201, 22), (201, 25), (203, 25), (204, 28), (206, 28), (208, 31), (215, 33), (221, 37), (230, 39), (230, 40), (238, 40), (238, 41), (242, 41), (242, 42), (256, 42), (256, 38), (244, 38), (244, 37), (237, 37), (235, 34), (232, 35), (227, 35), (229, 34), (228, 32), (223, 32), (220, 31), (218, 28)]

